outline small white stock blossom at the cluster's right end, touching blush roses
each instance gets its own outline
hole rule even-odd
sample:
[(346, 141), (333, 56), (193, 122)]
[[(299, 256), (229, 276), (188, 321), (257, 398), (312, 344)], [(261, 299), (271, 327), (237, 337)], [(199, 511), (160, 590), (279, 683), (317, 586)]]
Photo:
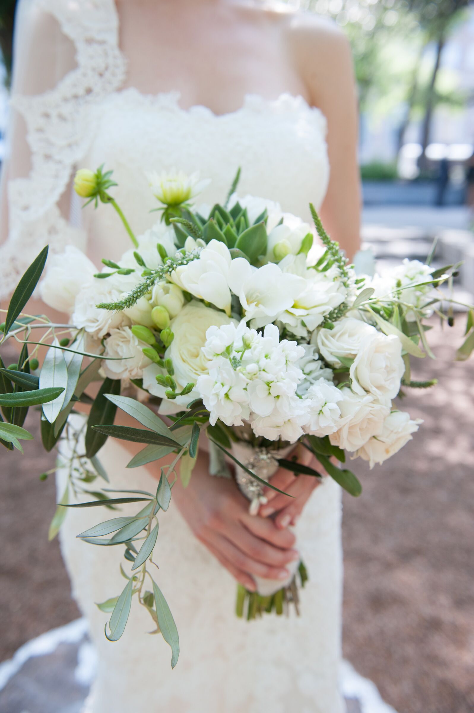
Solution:
[(341, 425), (339, 401), (343, 399), (344, 395), (331, 381), (319, 379), (310, 386), (304, 396), (309, 415), (306, 433), (320, 438), (334, 434)]

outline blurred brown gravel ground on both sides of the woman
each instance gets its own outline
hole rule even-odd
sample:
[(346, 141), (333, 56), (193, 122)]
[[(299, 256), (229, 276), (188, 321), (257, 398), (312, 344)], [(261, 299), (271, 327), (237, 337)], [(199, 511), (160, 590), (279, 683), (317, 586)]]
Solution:
[[(399, 713), (474, 711), (474, 360), (451, 361), (463, 322), (433, 329), (438, 361), (418, 361), (415, 377), (442, 383), (401, 404), (425, 420), (416, 438), (383, 469), (356, 463), (364, 493), (344, 497), (344, 656)], [(37, 424), (23, 458), (0, 452), (0, 660), (78, 616), (47, 540), (54, 481), (38, 474), (53, 457)]]

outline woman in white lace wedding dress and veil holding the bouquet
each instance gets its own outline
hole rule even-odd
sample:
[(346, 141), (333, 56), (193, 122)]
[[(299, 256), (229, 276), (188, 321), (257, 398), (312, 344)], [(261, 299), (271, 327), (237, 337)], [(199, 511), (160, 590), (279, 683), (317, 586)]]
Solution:
[[(71, 242), (97, 264), (128, 247), (114, 212), (81, 212), (71, 192), (75, 168), (102, 163), (137, 233), (156, 219), (145, 170), (200, 170), (212, 204), (241, 166), (239, 193), (304, 220), (314, 202), (332, 237), (356, 251), (354, 78), (332, 24), (230, 0), (20, 0), (14, 61), (0, 297), (46, 242), (56, 251)], [(122, 442), (109, 439), (100, 457), (113, 488), (148, 490), (160, 472), (157, 463), (127, 471)], [(294, 499), (277, 496), (252, 518), (234, 483), (211, 482), (206, 458), (160, 520), (160, 586), (181, 637), (173, 671), (168, 647), (145, 634), (143, 607), (118, 642), (105, 639), (94, 602), (123, 589), (122, 552), (81, 543), (96, 514), (68, 512), (61, 548), (98, 652), (86, 710), (340, 713), (339, 486), (327, 478), (314, 491), (314, 478), (279, 471), (273, 482)], [(60, 496), (64, 478), (58, 471)], [(309, 583), (299, 619), (234, 617), (235, 580), (254, 589), (253, 575), (284, 578), (300, 553)]]

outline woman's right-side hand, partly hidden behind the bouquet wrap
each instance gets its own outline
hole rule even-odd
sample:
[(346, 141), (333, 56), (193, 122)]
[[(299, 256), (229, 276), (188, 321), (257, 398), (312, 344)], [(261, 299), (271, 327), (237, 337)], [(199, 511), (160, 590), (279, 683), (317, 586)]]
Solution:
[[(299, 463), (321, 471), (321, 468), (314, 463), (314, 456), (309, 453), (306, 448), (299, 446), (296, 454)], [(280, 468), (272, 477), (272, 485), (292, 495), (293, 498), (290, 501), (287, 496), (279, 495), (279, 493), (276, 493), (270, 488), (264, 488), (268, 502), (266, 505), (260, 507), (259, 515), (261, 515), (262, 518), (268, 518), (270, 515), (274, 515), (274, 524), (277, 525), (277, 528), (280, 530), (286, 529), (288, 525), (296, 525), (299, 515), (301, 515), (311, 493), (314, 491), (314, 488), (317, 488), (320, 484), (321, 481), (319, 481), (318, 478), (314, 478), (313, 476), (294, 476), (294, 473)]]

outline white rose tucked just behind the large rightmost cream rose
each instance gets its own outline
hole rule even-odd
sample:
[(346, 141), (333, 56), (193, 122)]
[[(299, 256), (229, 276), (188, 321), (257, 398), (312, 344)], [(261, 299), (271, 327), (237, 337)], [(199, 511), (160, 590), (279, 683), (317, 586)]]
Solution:
[(375, 327), (353, 317), (336, 322), (334, 329), (320, 329), (317, 335), (319, 352), (331, 366), (341, 366), (338, 356), (355, 359), (366, 337), (378, 334)]

